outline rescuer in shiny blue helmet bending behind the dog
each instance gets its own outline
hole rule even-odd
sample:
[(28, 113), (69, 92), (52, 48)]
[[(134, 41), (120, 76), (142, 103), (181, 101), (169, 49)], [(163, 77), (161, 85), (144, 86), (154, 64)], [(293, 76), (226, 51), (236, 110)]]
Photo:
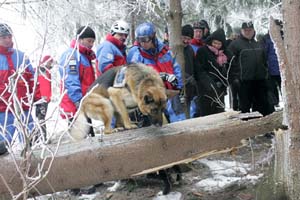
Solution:
[[(167, 89), (182, 91), (181, 68), (169, 47), (157, 39), (154, 25), (149, 22), (140, 24), (135, 30), (135, 37), (138, 47), (132, 49), (132, 58), (128, 62), (144, 63), (153, 67), (160, 74)], [(182, 93), (168, 101), (166, 115), (169, 122), (186, 119), (182, 103)]]

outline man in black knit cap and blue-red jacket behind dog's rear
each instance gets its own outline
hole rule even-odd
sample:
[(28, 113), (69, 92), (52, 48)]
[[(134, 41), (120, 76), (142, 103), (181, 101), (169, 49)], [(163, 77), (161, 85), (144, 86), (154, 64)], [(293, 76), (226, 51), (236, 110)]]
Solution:
[(61, 92), (64, 94), (60, 107), (64, 119), (70, 120), (74, 117), (82, 97), (95, 81), (96, 73), (92, 66), (92, 60), (96, 58), (92, 50), (95, 38), (92, 28), (80, 27), (76, 39), (71, 41), (70, 47), (59, 60)]

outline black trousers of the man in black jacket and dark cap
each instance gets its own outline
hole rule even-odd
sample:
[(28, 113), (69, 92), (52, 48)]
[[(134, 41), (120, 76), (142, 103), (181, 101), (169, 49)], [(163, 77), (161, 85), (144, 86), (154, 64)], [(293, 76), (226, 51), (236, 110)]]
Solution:
[(239, 100), (242, 113), (250, 112), (252, 109), (265, 116), (275, 110), (268, 99), (267, 80), (241, 81)]

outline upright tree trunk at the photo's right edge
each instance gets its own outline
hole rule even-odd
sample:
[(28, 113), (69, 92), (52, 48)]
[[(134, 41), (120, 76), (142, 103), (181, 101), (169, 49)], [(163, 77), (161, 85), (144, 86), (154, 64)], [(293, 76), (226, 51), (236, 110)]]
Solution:
[[(284, 116), (289, 130), (281, 137), (282, 152), (276, 163), (289, 199), (300, 199), (300, 1), (283, 0), (284, 47), (280, 56), (283, 82)], [(278, 145), (278, 149), (280, 146)], [(280, 157), (281, 156), (281, 157)], [(281, 160), (280, 160), (280, 159)]]

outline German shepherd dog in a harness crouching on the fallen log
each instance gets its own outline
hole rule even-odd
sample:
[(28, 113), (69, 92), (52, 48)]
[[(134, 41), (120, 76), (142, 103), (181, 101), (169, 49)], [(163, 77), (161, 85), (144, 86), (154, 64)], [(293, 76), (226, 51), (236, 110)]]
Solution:
[(90, 119), (104, 123), (104, 133), (112, 133), (111, 122), (125, 129), (137, 128), (129, 118), (132, 109), (139, 108), (152, 124), (161, 126), (166, 108), (166, 89), (159, 74), (144, 64), (130, 64), (112, 68), (91, 85), (82, 98), (78, 115), (70, 130), (75, 140), (85, 138), (90, 130)]

